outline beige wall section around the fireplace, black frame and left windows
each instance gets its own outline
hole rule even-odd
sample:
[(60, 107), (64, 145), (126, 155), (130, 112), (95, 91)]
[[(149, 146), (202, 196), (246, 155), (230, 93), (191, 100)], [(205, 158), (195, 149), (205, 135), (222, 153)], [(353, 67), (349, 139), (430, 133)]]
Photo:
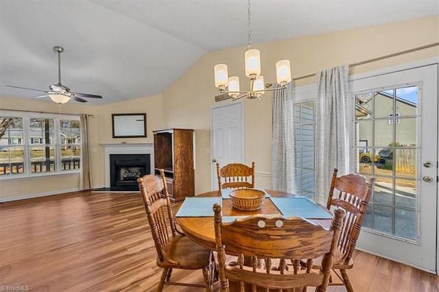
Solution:
[[(104, 97), (105, 98), (105, 97)], [(0, 109), (32, 110), (36, 112), (59, 112), (65, 114), (93, 114), (89, 125), (90, 147), (97, 149), (91, 153), (93, 186), (102, 187), (104, 178), (104, 148), (106, 143), (152, 143), (152, 130), (163, 127), (162, 97), (154, 95), (140, 99), (132, 99), (105, 106), (84, 106), (73, 102), (64, 104), (61, 108), (52, 101), (32, 99), (0, 98)], [(111, 114), (146, 112), (147, 137), (146, 138), (112, 138)], [(79, 186), (79, 174), (43, 176), (39, 178), (1, 180), (0, 201), (12, 197), (30, 197), (76, 191)]]

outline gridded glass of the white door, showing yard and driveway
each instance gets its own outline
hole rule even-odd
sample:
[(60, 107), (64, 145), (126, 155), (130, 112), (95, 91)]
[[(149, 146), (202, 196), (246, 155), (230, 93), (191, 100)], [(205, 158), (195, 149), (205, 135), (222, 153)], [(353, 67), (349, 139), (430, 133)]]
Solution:
[[(364, 106), (363, 95), (372, 97), (367, 101), (368, 114), (357, 106)], [(354, 97), (355, 172), (375, 177), (362, 227), (416, 241), (418, 86), (370, 89), (367, 94), (354, 93)], [(362, 141), (368, 141), (366, 151)]]

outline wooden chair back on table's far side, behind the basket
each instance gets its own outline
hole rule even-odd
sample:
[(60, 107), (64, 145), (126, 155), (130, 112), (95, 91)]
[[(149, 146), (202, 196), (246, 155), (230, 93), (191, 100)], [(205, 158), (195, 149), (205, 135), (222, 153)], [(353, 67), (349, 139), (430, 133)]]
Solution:
[(230, 163), (219, 168), (217, 162), (218, 188), (254, 188), (254, 162), (252, 167)]

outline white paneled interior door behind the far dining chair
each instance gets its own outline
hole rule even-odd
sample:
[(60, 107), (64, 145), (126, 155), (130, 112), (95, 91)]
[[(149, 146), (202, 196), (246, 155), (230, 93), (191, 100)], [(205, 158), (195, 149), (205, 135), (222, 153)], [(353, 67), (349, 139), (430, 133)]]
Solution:
[(216, 162), (220, 166), (244, 162), (243, 107), (239, 101), (211, 109), (212, 190), (218, 189)]

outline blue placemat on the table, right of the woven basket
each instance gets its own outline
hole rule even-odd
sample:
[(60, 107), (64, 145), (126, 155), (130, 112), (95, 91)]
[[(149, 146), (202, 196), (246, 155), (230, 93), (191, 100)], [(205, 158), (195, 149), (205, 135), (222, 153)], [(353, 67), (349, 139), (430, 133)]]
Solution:
[(270, 197), (284, 217), (306, 219), (332, 219), (332, 215), (311, 202), (307, 197)]

